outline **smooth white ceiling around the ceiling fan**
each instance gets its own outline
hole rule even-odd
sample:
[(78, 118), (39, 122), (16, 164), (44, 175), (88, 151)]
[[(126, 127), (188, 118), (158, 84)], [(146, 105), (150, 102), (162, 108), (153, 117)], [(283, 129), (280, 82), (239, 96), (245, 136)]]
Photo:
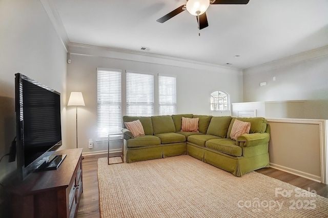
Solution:
[(328, 0), (210, 5), (209, 27), (200, 31), (188, 11), (163, 24), (156, 22), (186, 0), (52, 1), (71, 43), (232, 63), (230, 67), (239, 69), (328, 45)]

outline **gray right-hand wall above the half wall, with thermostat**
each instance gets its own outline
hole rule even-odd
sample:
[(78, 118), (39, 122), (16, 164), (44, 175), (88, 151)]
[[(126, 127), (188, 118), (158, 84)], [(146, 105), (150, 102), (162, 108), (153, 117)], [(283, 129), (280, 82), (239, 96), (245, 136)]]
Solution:
[(298, 118), (328, 119), (327, 81), (328, 47), (323, 47), (243, 70), (243, 101), (305, 100), (306, 112)]

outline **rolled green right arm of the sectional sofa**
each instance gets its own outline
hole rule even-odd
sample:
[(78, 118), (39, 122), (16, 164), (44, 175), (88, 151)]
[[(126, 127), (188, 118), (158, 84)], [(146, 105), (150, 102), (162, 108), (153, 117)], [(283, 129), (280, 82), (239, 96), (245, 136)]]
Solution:
[(240, 147), (261, 145), (270, 141), (270, 134), (264, 132), (239, 135), (236, 141)]

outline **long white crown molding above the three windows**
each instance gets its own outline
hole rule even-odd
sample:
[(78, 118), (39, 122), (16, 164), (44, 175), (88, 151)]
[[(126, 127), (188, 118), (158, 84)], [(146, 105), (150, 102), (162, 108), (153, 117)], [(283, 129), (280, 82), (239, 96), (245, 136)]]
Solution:
[(100, 47), (100, 46), (91, 46), (91, 45), (78, 44), (78, 43), (69, 43), (68, 52), (77, 55), (109, 57), (118, 60), (129, 60), (129, 61), (145, 62), (151, 64), (185, 67), (185, 68), (192, 68), (192, 69), (199, 69), (199, 70), (219, 71), (220, 73), (222, 72), (227, 72), (227, 73), (238, 72), (240, 74), (242, 73), (240, 69), (233, 68), (233, 67), (214, 65), (209, 63), (191, 61), (182, 58), (176, 58), (176, 57), (170, 57), (170, 56), (164, 56), (158, 54)]

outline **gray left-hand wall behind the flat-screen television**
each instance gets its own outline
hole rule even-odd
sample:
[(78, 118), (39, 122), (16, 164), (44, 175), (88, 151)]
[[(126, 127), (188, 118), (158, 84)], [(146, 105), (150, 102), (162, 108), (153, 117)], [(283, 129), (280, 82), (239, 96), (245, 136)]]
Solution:
[[(40, 1), (0, 1), (0, 156), (9, 152), (16, 135), (14, 110), (15, 73), (23, 73), (61, 93), (61, 118), (66, 120), (67, 51), (58, 37)], [(62, 122), (63, 142), (66, 125)], [(16, 169), (16, 162), (0, 163), (0, 182), (6, 184)], [(0, 186), (0, 214), (8, 198)]]

